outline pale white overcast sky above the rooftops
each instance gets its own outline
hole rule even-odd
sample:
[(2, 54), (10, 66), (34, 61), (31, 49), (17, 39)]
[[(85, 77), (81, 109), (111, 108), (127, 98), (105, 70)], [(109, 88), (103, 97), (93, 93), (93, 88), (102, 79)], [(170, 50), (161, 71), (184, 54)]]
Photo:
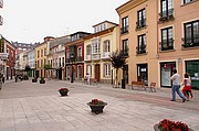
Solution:
[(105, 20), (119, 23), (116, 8), (128, 0), (3, 0), (0, 34), (20, 43), (43, 42), (78, 31), (93, 33)]

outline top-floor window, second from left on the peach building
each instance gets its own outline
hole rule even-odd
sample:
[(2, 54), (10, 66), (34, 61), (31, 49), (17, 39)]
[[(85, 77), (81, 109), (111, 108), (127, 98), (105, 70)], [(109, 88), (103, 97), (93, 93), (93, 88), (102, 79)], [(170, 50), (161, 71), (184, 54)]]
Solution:
[(146, 13), (145, 9), (137, 12), (137, 29), (146, 26)]

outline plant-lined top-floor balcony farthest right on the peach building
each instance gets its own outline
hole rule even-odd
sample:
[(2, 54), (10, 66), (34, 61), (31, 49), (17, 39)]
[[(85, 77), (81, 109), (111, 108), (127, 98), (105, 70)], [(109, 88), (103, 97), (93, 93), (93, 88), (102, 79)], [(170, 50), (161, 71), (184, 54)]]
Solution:
[(169, 10), (160, 12), (159, 17), (160, 17), (159, 18), (159, 23), (164, 23), (164, 22), (175, 20), (175, 18), (174, 18), (174, 9), (169, 9)]

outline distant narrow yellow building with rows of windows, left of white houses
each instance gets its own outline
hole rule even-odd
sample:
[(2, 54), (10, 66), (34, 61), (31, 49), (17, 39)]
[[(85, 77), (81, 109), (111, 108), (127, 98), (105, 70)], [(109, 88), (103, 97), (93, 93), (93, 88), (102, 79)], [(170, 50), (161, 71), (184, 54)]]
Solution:
[(44, 64), (48, 63), (46, 55), (49, 54), (49, 41), (54, 37), (46, 36), (44, 42), (35, 46), (35, 76), (36, 77), (46, 77), (44, 70)]

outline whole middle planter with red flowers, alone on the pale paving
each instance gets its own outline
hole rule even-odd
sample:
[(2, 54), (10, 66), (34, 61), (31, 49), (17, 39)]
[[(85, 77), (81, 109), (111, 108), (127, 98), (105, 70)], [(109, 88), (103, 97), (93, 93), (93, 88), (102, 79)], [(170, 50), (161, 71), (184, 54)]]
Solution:
[(92, 112), (98, 114), (103, 112), (103, 109), (107, 105), (107, 102), (98, 99), (92, 99), (92, 101), (87, 102), (87, 105), (90, 106)]

